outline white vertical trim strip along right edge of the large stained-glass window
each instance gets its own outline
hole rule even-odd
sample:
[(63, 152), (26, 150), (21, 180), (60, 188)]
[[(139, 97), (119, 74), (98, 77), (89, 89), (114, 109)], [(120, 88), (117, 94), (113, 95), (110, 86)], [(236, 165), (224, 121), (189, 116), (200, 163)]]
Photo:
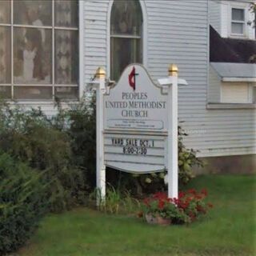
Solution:
[(84, 15), (84, 2), (83, 1), (78, 1), (78, 7), (79, 7), (79, 21), (78, 21), (78, 28), (79, 28), (79, 82), (78, 82), (78, 97), (82, 98), (83, 92), (86, 88), (84, 85), (84, 20), (83, 20), (83, 15)]

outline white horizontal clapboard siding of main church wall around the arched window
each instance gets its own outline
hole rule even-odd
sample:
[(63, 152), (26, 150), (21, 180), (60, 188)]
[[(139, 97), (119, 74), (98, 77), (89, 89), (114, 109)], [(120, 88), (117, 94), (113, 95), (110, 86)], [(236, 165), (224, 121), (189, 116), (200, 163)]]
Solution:
[[(255, 110), (206, 110), (208, 1), (144, 2), (149, 73), (154, 79), (166, 77), (170, 63), (176, 63), (180, 77), (189, 83), (178, 93), (178, 118), (190, 134), (186, 146), (200, 150), (200, 156), (255, 154)], [(107, 70), (109, 4), (107, 0), (84, 4), (86, 82), (98, 66)]]

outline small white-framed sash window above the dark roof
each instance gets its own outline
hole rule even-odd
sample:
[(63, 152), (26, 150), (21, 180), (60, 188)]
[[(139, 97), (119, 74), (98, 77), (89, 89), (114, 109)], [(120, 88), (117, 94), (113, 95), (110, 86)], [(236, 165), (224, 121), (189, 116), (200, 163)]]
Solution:
[(231, 34), (245, 34), (245, 10), (232, 8)]

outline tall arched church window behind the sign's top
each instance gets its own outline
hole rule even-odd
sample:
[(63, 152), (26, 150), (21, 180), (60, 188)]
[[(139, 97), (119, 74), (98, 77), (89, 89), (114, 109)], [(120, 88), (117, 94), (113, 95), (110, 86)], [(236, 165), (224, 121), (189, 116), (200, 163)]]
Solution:
[(142, 9), (138, 0), (114, 0), (110, 18), (110, 78), (142, 62)]

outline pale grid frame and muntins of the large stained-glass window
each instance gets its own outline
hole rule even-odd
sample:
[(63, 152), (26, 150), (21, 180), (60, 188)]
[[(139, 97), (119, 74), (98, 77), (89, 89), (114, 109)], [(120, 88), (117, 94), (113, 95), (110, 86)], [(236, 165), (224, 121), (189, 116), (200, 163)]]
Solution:
[[(52, 25), (51, 26), (32, 26), (32, 25), (22, 25), (22, 24), (14, 24), (14, 0), (10, 0), (10, 23), (0, 23), (0, 26), (2, 27), (8, 27), (10, 28), (10, 44), (11, 44), (11, 50), (10, 50), (10, 72), (11, 72), (11, 78), (10, 83), (1, 83), (0, 86), (10, 86), (11, 87), (11, 98), (6, 98), (8, 102), (18, 102), (18, 103), (25, 103), (25, 104), (32, 104), (33, 102), (39, 103), (39, 104), (48, 104), (50, 102), (55, 102), (55, 96), (54, 96), (54, 90), (55, 87), (76, 87), (78, 88), (77, 98), (63, 98), (61, 99), (63, 102), (72, 101), (72, 102), (78, 102), (79, 98), (82, 97), (82, 88), (84, 81), (84, 75), (82, 72), (82, 67), (84, 66), (83, 61), (83, 1), (78, 1), (78, 27), (62, 27), (62, 26), (55, 26), (54, 24), (54, 0), (51, 0), (51, 7), (52, 7)], [(38, 28), (38, 29), (44, 29), (44, 30), (50, 30), (51, 33), (51, 83), (45, 83), (45, 84), (26, 84), (26, 83), (14, 83), (14, 28)], [(58, 84), (54, 82), (54, 66), (55, 66), (55, 30), (68, 30), (68, 31), (78, 31), (78, 83), (77, 84)], [(80, 57), (82, 56), (82, 57)], [(49, 99), (15, 99), (14, 98), (14, 86), (20, 86), (20, 87), (50, 87), (52, 89), (52, 97)]]

